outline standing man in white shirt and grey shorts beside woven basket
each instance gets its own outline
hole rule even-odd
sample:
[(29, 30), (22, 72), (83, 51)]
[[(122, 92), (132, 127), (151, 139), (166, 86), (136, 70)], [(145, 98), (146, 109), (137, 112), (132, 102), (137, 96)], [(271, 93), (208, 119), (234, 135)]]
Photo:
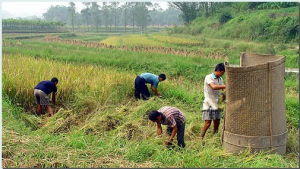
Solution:
[[(223, 85), (222, 75), (225, 72), (225, 66), (223, 63), (217, 64), (215, 72), (206, 75), (204, 80), (204, 101), (202, 108), (202, 120), (205, 121), (201, 130), (201, 138), (204, 138), (206, 130), (209, 128), (211, 121), (214, 122), (213, 133), (218, 132), (220, 124), (220, 112), (218, 108), (219, 90), (225, 89)], [(223, 99), (224, 99), (223, 95)]]

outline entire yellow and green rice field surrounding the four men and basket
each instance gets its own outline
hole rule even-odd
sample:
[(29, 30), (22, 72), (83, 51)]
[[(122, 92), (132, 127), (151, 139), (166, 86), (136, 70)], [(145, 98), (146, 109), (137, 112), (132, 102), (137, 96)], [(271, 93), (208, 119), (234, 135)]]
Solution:
[[(94, 42), (111, 37), (99, 35), (90, 40), (93, 35), (58, 35)], [(253, 155), (246, 150), (233, 155), (222, 148), (221, 130), (216, 135), (209, 130), (200, 140), (203, 80), (225, 58), (47, 43), (41, 37), (15, 40), (14, 36), (4, 40), (2, 58), (4, 167), (299, 167), (299, 88), (294, 74), (287, 74), (285, 81), (287, 153)], [(185, 49), (199, 45), (215, 50), (217, 45), (226, 44), (232, 50), (229, 61), (237, 64), (239, 45), (253, 50), (266, 45), (167, 34), (113, 36), (119, 38), (117, 45), (145, 45), (132, 42), (133, 37)], [(291, 53), (287, 55), (287, 67), (297, 67), (293, 63), (296, 54), (291, 52), (295, 49), (284, 50)], [(167, 75), (158, 87), (164, 98), (135, 101), (133, 82), (145, 71)], [(53, 76), (59, 79), (56, 113), (51, 118), (35, 116), (33, 88)], [(186, 116), (184, 150), (165, 148), (165, 130), (157, 137), (156, 124), (147, 119), (150, 110), (164, 105), (178, 107)]]

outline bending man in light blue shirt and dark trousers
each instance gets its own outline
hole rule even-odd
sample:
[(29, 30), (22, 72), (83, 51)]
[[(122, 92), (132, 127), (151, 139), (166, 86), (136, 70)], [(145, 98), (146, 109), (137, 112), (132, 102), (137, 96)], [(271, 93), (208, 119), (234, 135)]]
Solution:
[(140, 94), (142, 94), (143, 100), (148, 100), (150, 93), (146, 83), (151, 84), (151, 89), (156, 96), (161, 97), (161, 94), (157, 91), (157, 85), (159, 82), (166, 80), (165, 74), (160, 74), (159, 76), (152, 73), (142, 73), (137, 76), (134, 81), (134, 95), (136, 99), (140, 99)]

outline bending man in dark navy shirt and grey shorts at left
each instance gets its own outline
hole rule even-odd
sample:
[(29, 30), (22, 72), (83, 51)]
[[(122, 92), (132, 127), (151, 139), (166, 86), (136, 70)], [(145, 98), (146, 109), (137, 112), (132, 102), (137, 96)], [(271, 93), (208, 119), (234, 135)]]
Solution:
[(50, 116), (53, 116), (53, 110), (50, 106), (49, 97), (50, 93), (52, 94), (52, 103), (55, 105), (55, 95), (57, 92), (56, 85), (58, 83), (58, 79), (53, 77), (51, 81), (41, 81), (34, 88), (34, 96), (36, 104), (38, 105), (38, 115), (42, 114), (42, 106), (47, 106), (47, 111)]

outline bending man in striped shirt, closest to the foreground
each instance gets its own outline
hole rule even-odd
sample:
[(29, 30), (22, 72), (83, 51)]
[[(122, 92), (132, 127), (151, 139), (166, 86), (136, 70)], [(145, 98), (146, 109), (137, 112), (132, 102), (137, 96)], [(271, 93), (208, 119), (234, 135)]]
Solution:
[(184, 148), (184, 128), (185, 117), (184, 114), (176, 107), (164, 106), (159, 110), (151, 111), (149, 119), (157, 123), (157, 135), (161, 135), (161, 124), (168, 125), (167, 134), (171, 137), (165, 142), (165, 145), (170, 145), (173, 142), (173, 138), (177, 133), (177, 143), (179, 147)]

